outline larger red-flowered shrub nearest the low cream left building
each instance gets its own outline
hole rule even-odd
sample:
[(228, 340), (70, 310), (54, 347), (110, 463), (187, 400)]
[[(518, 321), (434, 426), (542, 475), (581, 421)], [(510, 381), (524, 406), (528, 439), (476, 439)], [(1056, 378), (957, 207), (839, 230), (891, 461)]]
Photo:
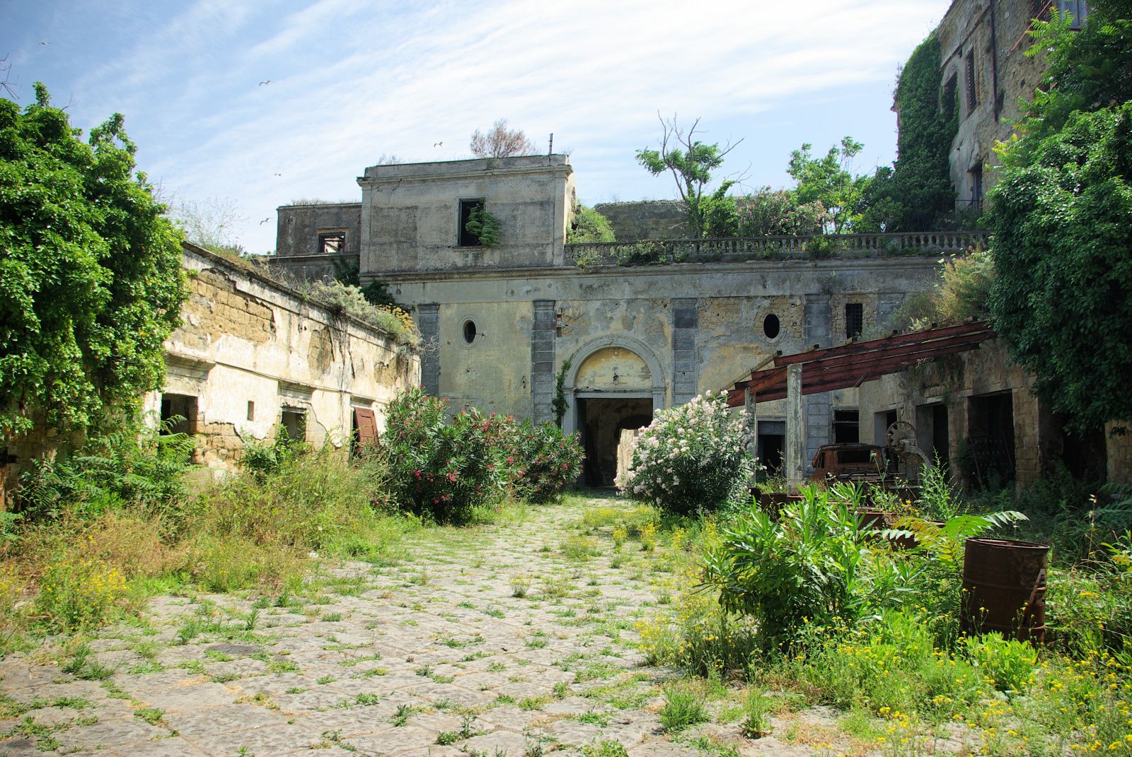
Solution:
[(514, 423), (478, 410), (451, 422), (444, 401), (413, 388), (389, 403), (379, 446), (388, 456), (397, 502), (441, 523), (465, 522), (475, 508), (492, 505), (511, 481), (505, 451)]

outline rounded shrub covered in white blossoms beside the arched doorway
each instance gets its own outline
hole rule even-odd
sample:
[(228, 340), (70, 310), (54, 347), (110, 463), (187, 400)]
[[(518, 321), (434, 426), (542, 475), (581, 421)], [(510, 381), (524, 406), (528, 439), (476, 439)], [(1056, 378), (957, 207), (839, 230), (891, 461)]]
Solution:
[(641, 435), (621, 483), (629, 496), (678, 515), (714, 509), (745, 492), (754, 463), (744, 419), (726, 393), (661, 411)]

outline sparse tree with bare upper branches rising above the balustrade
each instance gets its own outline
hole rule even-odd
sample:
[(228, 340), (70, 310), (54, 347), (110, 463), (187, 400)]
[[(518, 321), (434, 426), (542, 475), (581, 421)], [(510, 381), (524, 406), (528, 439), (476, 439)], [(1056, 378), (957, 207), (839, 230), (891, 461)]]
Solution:
[[(696, 127), (700, 119), (692, 122), (686, 131), (677, 123), (674, 115), (664, 120), (658, 113), (662, 127), (660, 149), (644, 148), (636, 154), (637, 163), (645, 171), (655, 175), (669, 172), (676, 180), (676, 189), (680, 193), (680, 203), (688, 216), (688, 230), (693, 236), (703, 236), (705, 232), (720, 232), (728, 224), (727, 203), (734, 209), (735, 201), (727, 197), (727, 191), (735, 186), (736, 179), (724, 180), (713, 192), (704, 196), (711, 183), (711, 172), (723, 165), (723, 157), (739, 146), (719, 144), (705, 145), (696, 139)], [(726, 234), (721, 234), (726, 235)]]

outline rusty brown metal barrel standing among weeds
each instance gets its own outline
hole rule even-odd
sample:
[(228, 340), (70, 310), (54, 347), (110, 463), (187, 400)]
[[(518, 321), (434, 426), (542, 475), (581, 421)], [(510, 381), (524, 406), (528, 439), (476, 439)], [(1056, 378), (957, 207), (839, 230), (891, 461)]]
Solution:
[(1048, 544), (968, 539), (963, 553), (962, 626), (1041, 644), (1046, 634)]

